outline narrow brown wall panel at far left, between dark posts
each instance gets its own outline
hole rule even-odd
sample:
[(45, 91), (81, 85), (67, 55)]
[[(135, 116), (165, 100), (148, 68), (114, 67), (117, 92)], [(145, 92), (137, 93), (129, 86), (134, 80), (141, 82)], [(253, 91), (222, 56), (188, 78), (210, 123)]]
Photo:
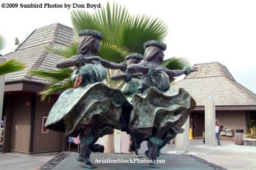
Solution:
[(31, 95), (12, 97), (10, 151), (29, 153), (31, 132)]

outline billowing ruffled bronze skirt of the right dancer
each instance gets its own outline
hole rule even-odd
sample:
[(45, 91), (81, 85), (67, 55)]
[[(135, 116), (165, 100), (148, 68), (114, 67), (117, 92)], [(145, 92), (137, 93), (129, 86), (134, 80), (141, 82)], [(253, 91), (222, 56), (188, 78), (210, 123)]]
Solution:
[(161, 92), (150, 87), (143, 94), (132, 95), (133, 111), (129, 130), (134, 140), (144, 140), (156, 132), (166, 132), (184, 125), (196, 102), (183, 88), (170, 88)]

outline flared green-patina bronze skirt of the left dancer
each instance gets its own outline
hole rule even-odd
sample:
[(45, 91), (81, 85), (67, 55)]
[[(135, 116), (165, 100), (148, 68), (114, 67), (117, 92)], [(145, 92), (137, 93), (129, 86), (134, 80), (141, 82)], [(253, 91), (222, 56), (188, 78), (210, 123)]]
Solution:
[(45, 127), (77, 137), (81, 125), (84, 125), (85, 130), (89, 127), (93, 129), (94, 137), (102, 137), (113, 132), (109, 128), (120, 129), (120, 116), (129, 118), (131, 110), (132, 105), (120, 89), (97, 82), (61, 93), (49, 113)]

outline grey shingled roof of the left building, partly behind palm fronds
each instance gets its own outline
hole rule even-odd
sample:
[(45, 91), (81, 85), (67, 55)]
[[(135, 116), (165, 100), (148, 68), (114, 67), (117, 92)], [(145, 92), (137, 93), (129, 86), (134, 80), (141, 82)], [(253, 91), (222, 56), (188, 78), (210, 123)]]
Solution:
[(29, 75), (28, 71), (56, 69), (56, 63), (63, 59), (61, 56), (47, 52), (45, 45), (67, 46), (72, 43), (73, 39), (73, 29), (62, 24), (52, 24), (35, 29), (14, 52), (4, 56), (6, 59), (18, 59), (26, 65), (24, 70), (6, 74), (6, 84), (20, 81), (44, 83), (42, 79)]

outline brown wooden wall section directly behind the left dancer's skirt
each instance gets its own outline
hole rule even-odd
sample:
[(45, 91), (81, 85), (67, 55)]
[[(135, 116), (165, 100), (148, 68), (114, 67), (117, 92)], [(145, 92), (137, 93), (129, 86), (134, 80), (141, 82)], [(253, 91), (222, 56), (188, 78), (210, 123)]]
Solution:
[(44, 102), (40, 96), (36, 96), (35, 124), (33, 125), (33, 153), (42, 153), (50, 151), (63, 151), (65, 148), (65, 135), (61, 132), (49, 130), (48, 133), (42, 132), (42, 118), (48, 116), (52, 105), (57, 97), (46, 98)]

